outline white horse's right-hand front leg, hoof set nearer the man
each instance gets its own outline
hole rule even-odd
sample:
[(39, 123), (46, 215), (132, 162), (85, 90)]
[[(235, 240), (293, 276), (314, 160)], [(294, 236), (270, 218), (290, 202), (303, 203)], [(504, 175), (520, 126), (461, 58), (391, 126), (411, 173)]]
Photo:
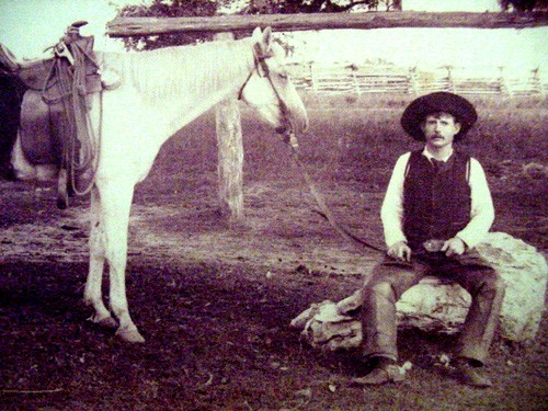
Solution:
[(134, 185), (127, 182), (109, 182), (99, 185), (99, 193), (104, 255), (109, 263), (110, 302), (114, 316), (119, 321), (116, 335), (128, 342), (145, 342), (129, 316), (125, 283)]

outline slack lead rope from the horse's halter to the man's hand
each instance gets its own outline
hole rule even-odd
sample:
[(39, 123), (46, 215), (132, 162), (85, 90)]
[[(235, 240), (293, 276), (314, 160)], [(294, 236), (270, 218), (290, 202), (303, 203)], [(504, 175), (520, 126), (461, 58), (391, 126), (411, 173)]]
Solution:
[(351, 232), (346, 227), (342, 226), (341, 224), (339, 224), (336, 221), (335, 217), (333, 216), (333, 213), (331, 213), (331, 209), (328, 207), (328, 205), (326, 203), (326, 198), (323, 197), (321, 192), (317, 189), (316, 183), (313, 182), (312, 178), (308, 173), (306, 165), (300, 160), (299, 150), (298, 150), (298, 142), (297, 142), (297, 138), (295, 137), (295, 135), (293, 133), (289, 135), (286, 135), (284, 138), (284, 142), (286, 142), (290, 147), (292, 158), (294, 159), (295, 163), (300, 169), (302, 176), (305, 178), (305, 181), (308, 184), (310, 193), (315, 197), (316, 203), (318, 203), (318, 206), (320, 209), (315, 210), (315, 212), (318, 213), (323, 218), (326, 218), (329, 221), (329, 224), (335, 229), (336, 232), (339, 232), (345, 239), (351, 240), (354, 246), (359, 247), (361, 249), (368, 248), (370, 250), (375, 250), (375, 251), (385, 253), (386, 250), (383, 250), (383, 249), (361, 239), (359, 237), (357, 237), (356, 235)]

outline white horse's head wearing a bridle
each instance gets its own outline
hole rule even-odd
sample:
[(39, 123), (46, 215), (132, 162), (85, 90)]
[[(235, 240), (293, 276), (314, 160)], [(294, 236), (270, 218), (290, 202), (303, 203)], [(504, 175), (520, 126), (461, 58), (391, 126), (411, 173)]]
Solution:
[(255, 28), (251, 37), (254, 67), (239, 98), (255, 109), (278, 133), (299, 134), (308, 116), (284, 66), (285, 52), (272, 41), (272, 30)]

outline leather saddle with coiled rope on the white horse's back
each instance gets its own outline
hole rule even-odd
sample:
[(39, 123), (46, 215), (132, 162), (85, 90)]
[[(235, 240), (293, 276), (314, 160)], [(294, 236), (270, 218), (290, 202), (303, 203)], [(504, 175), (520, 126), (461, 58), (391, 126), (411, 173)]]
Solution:
[(18, 61), (0, 45), (0, 73), (26, 88), (21, 103), (21, 147), (31, 163), (59, 167), (59, 208), (68, 205), (69, 195), (87, 194), (93, 183), (98, 147), (87, 116), (91, 95), (102, 91), (103, 84), (94, 38), (79, 32), (84, 24), (71, 24), (47, 59)]

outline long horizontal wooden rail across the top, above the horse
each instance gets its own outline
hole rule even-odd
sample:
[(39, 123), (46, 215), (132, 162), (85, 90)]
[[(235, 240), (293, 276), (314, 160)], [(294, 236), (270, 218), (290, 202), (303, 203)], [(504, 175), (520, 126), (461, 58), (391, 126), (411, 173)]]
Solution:
[(466, 13), (466, 12), (373, 12), (307, 13), (267, 15), (217, 15), (208, 18), (118, 18), (106, 25), (111, 37), (156, 35), (181, 32), (249, 32), (256, 26), (271, 26), (277, 32), (322, 28), (390, 27), (476, 27), (525, 28), (548, 25), (548, 12)]

